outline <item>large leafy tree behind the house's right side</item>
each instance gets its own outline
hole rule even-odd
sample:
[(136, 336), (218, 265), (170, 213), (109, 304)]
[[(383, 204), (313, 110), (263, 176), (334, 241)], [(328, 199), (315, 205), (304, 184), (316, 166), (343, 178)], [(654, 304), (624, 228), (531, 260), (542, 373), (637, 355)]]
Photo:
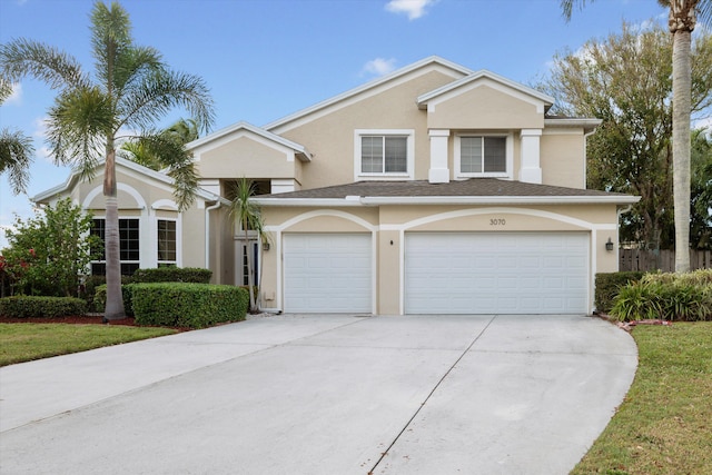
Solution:
[[(603, 119), (589, 139), (587, 186), (640, 195), (621, 224), (621, 239), (674, 246), (672, 191), (672, 41), (661, 27), (590, 40), (554, 57), (543, 89), (555, 113)], [(693, 112), (712, 105), (712, 36), (692, 48)]]

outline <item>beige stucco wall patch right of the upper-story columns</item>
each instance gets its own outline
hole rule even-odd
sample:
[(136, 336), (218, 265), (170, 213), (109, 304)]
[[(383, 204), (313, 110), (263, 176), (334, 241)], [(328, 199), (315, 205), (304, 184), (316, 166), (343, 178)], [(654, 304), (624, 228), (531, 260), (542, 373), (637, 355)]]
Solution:
[(545, 130), (541, 138), (542, 182), (585, 188), (585, 138), (583, 129)]

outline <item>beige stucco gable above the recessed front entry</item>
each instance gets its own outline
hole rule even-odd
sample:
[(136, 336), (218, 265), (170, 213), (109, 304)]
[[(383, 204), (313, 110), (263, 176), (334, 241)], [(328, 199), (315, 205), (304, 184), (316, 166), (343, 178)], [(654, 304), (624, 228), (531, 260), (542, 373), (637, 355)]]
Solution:
[(294, 151), (243, 136), (206, 150), (196, 161), (201, 178), (296, 178)]

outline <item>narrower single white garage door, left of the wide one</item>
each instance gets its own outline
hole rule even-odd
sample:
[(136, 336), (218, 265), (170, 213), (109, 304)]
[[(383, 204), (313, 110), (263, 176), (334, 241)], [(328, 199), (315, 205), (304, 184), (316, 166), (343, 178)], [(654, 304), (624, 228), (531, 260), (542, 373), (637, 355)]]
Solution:
[(284, 237), (285, 311), (372, 313), (369, 234)]

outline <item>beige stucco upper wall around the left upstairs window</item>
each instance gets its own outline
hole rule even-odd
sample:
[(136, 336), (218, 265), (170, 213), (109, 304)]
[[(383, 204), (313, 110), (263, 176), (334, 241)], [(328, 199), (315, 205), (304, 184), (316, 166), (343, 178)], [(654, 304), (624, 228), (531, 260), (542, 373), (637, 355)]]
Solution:
[(452, 76), (432, 71), (280, 131), (283, 137), (303, 144), (313, 154), (312, 161), (304, 167), (303, 188), (354, 181), (357, 129), (413, 129), (415, 178), (427, 179), (431, 146), (426, 112), (417, 108), (415, 98), (452, 80)]

